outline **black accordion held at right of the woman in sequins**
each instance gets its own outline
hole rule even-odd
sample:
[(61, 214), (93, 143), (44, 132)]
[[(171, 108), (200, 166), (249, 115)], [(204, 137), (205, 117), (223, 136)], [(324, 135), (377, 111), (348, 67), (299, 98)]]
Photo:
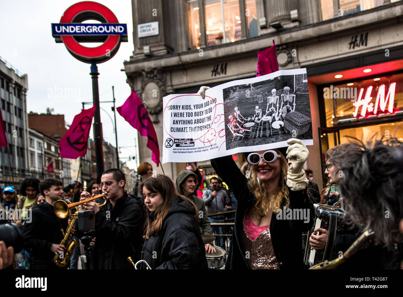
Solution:
[[(330, 206), (322, 204), (314, 204), (315, 219), (314, 226), (308, 232), (306, 246), (305, 246), (305, 265), (312, 267), (325, 260), (332, 260), (337, 257), (334, 250), (334, 240), (336, 234), (341, 231), (343, 227), (343, 218), (345, 212), (339, 206)], [(315, 250), (312, 248), (309, 239), (312, 233), (315, 233), (316, 228), (326, 229), (328, 231), (328, 239), (326, 246), (323, 250)]]

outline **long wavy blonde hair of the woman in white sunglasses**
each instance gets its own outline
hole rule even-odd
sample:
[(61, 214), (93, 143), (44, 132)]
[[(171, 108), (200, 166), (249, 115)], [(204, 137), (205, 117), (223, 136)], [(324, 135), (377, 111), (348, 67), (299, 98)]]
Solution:
[(250, 172), (250, 177), (248, 180), (248, 188), (255, 195), (255, 210), (253, 215), (256, 217), (264, 217), (269, 213), (275, 213), (277, 209), (280, 209), (281, 204), (284, 200), (286, 209), (289, 208), (290, 200), (288, 198), (288, 187), (287, 187), (287, 171), (288, 164), (286, 158), (278, 152), (281, 156), (281, 173), (280, 180), (276, 190), (268, 195), (266, 189), (261, 183), (258, 183), (258, 177), (253, 170), (253, 165), (248, 164), (247, 170)]

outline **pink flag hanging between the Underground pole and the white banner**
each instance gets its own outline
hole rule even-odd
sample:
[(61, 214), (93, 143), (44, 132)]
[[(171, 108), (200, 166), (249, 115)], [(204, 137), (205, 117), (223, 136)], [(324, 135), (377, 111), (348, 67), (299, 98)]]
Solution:
[(148, 116), (147, 110), (136, 92), (133, 90), (125, 103), (117, 107), (116, 110), (130, 126), (139, 131), (141, 136), (147, 136), (147, 147), (152, 151), (151, 159), (158, 167), (160, 164), (160, 147), (158, 146), (157, 134), (150, 116)]

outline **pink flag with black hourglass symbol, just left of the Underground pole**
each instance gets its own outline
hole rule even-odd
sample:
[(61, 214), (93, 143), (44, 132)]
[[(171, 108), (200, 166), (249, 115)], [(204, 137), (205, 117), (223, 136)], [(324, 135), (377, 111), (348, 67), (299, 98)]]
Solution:
[(85, 156), (94, 114), (95, 105), (88, 110), (81, 110), (81, 113), (74, 117), (69, 130), (59, 141), (59, 152), (62, 158), (77, 159)]

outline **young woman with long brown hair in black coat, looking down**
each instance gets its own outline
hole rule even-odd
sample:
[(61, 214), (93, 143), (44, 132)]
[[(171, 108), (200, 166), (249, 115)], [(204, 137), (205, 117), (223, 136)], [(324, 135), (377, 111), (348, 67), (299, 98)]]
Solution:
[(207, 269), (195, 204), (177, 194), (166, 175), (150, 177), (139, 187), (147, 207), (141, 259), (152, 269)]

